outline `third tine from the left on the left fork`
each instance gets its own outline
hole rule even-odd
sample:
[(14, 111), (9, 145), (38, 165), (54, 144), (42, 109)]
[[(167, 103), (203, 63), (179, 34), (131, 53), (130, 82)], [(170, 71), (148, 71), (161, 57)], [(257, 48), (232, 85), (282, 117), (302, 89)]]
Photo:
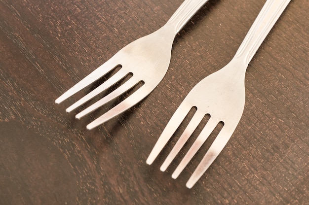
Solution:
[(133, 86), (135, 86), (138, 83), (137, 80), (135, 80), (135, 77), (132, 76), (130, 79), (128, 79), (125, 83), (120, 85), (116, 90), (114, 90), (112, 93), (108, 94), (107, 96), (103, 97), (101, 100), (93, 103), (86, 109), (82, 110), (76, 115), (77, 119), (80, 119), (81, 117), (85, 116), (86, 114), (89, 114), (90, 112), (98, 109), (102, 105), (104, 105), (107, 102), (110, 102), (111, 100), (115, 99), (116, 97), (120, 96), (124, 92), (131, 89)]

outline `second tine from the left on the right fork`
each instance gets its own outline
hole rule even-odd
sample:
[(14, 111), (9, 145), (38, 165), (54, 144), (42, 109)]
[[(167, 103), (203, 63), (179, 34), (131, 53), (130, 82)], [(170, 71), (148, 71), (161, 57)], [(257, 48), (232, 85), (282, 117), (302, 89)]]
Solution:
[(161, 171), (165, 171), (167, 167), (171, 164), (173, 159), (176, 157), (178, 152), (181, 150), (181, 148), (185, 145), (189, 137), (192, 135), (198, 124), (201, 122), (203, 117), (205, 116), (204, 112), (200, 112), (199, 110), (196, 110), (194, 113), (190, 123), (186, 127), (185, 131), (182, 133), (182, 135), (179, 137), (178, 141), (176, 142), (175, 146), (169, 153), (169, 155), (166, 157), (165, 161), (163, 162), (162, 166), (160, 167)]

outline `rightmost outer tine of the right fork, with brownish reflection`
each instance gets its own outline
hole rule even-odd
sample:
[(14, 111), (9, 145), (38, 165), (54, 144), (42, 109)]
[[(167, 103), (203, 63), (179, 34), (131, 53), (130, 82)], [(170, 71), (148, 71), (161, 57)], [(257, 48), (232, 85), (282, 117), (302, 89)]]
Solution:
[(197, 168), (189, 178), (186, 186), (190, 189), (197, 182), (197, 180), (205, 173), (213, 161), (218, 157), (222, 149), (225, 147), (229, 139), (231, 138), (235, 128), (228, 128), (226, 125), (223, 126), (220, 133), (213, 141), (212, 145), (206, 152), (205, 156), (198, 164)]

